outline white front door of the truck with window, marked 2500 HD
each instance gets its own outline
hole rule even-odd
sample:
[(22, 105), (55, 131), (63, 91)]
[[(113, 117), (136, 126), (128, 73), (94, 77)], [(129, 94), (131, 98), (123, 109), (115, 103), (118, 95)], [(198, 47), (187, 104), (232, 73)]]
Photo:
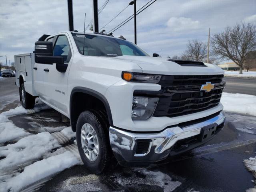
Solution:
[(56, 110), (64, 114), (68, 113), (67, 86), (68, 71), (72, 61), (72, 47), (69, 37), (66, 34), (55, 36), (54, 56), (64, 57), (65, 64), (68, 64), (66, 72), (61, 73), (56, 70), (56, 64), (48, 65), (44, 74), (45, 101)]

